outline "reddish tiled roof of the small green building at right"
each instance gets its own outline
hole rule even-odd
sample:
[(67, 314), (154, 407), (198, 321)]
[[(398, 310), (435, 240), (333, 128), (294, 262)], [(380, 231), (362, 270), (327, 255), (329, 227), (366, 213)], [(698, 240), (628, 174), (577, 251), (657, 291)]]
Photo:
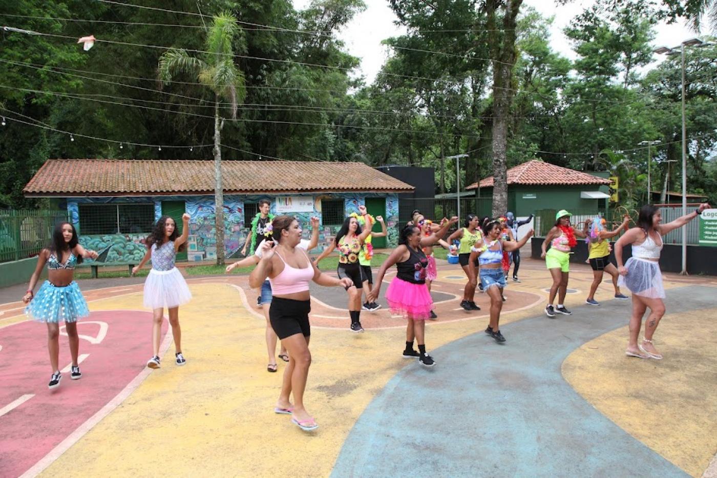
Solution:
[[(527, 163), (508, 169), (508, 184), (527, 185), (556, 185), (570, 186), (579, 184), (610, 184), (608, 179), (593, 176), (584, 172), (575, 171), (546, 163), (538, 159), (532, 159)], [(480, 187), (493, 187), (493, 176), (480, 180)], [(465, 189), (478, 189), (478, 183), (474, 182)]]

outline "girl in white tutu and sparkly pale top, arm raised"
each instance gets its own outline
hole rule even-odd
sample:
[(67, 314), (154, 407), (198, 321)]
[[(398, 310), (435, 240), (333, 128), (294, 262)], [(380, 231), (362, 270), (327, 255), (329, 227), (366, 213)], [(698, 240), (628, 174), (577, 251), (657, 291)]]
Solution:
[(163, 308), (169, 314), (169, 324), (174, 338), (174, 361), (176, 365), (184, 365), (186, 359), (181, 352), (181, 327), (179, 326), (179, 306), (191, 300), (191, 292), (186, 285), (179, 269), (174, 266), (177, 252), (186, 247), (189, 237), (189, 214), (181, 216), (182, 233), (179, 235), (174, 219), (162, 216), (147, 238), (147, 253), (140, 263), (132, 268), (136, 274), (152, 259), (152, 270), (149, 271), (144, 283), (144, 306), (152, 309), (152, 358), (147, 360), (147, 367), (159, 368), (159, 342), (162, 338)]

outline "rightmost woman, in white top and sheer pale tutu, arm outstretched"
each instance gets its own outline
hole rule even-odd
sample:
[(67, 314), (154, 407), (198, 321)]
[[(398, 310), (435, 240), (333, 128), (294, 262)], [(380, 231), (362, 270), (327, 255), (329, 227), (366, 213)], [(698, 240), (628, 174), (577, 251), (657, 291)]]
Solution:
[[(660, 360), (663, 355), (657, 352), (652, 343), (657, 324), (665, 314), (665, 289), (663, 275), (660, 272), (660, 250), (663, 248), (663, 238), (671, 230), (681, 228), (688, 222), (709, 209), (707, 203), (690, 212), (688, 215), (678, 217), (672, 222), (662, 224), (663, 216), (660, 208), (645, 205), (640, 209), (637, 217), (637, 228), (632, 228), (623, 234), (615, 243), (615, 259), (617, 271), (620, 274), (619, 285), (626, 286), (632, 292), (632, 317), (630, 317), (630, 340), (627, 342), (625, 355), (628, 357), (652, 358)], [(632, 244), (632, 257), (627, 263), (622, 263), (622, 248)], [(645, 320), (645, 338), (640, 345), (637, 337), (640, 335), (642, 317), (650, 309), (650, 315)]]

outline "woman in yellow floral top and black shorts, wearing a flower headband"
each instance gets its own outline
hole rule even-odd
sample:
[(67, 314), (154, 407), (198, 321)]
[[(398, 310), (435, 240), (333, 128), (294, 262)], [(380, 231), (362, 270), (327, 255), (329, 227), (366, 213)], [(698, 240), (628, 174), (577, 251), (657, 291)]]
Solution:
[[(359, 206), (359, 214), (364, 217), (364, 223), (369, 220), (366, 206)], [(339, 278), (348, 277), (353, 282), (353, 286), (348, 289), (348, 315), (351, 317), (353, 332), (364, 332), (364, 327), (361, 327), (361, 289), (364, 288), (364, 276), (359, 264), (359, 252), (361, 252), (361, 248), (364, 248), (364, 242), (369, 234), (371, 234), (371, 228), (362, 230), (359, 220), (349, 216), (343, 221), (343, 225), (333, 241), (339, 254), (336, 273)], [(331, 255), (332, 251), (333, 247), (329, 247), (320, 253), (316, 258), (316, 265), (318, 266), (321, 259)]]

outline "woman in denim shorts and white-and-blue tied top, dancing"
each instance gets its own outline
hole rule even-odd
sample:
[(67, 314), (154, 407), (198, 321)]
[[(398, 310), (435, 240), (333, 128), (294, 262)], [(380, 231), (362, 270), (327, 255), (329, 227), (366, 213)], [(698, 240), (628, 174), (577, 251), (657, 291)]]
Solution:
[(480, 264), (480, 283), (490, 297), (490, 322), (485, 333), (495, 339), (495, 342), (505, 342), (500, 333), (500, 310), (503, 309), (503, 289), (505, 288), (505, 274), (503, 273), (503, 253), (507, 250), (516, 250), (526, 245), (533, 235), (529, 230), (518, 242), (503, 238), (503, 222), (493, 220), (483, 226), (483, 239), (478, 240), (470, 252), (468, 265), (475, 273), (475, 262)]

